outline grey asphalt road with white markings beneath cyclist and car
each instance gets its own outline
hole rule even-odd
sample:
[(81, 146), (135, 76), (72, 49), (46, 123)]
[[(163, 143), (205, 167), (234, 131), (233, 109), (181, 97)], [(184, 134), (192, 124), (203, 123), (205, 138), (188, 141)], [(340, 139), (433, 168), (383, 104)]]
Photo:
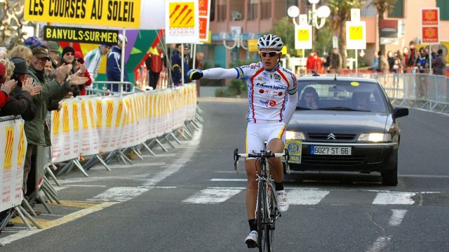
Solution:
[[(61, 205), (46, 228), (0, 234), (0, 251), (248, 251), (243, 149), (246, 100), (201, 98), (205, 124), (174, 150), (132, 166), (95, 166), (58, 179)], [(448, 115), (410, 110), (400, 119), (399, 183), (378, 174), (295, 173), (276, 251), (449, 251)], [(251, 250), (255, 251), (255, 250)]]

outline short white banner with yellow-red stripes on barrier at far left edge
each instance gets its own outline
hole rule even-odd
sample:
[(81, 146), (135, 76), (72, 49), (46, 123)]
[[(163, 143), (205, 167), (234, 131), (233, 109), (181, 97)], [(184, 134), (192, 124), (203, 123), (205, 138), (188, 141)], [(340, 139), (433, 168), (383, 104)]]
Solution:
[(0, 211), (22, 203), (27, 138), (22, 119), (0, 121)]

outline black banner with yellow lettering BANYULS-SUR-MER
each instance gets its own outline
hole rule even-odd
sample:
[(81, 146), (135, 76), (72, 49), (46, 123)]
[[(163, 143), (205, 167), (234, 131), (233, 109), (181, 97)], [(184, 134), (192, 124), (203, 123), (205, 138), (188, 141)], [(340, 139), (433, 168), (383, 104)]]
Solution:
[(119, 32), (108, 29), (87, 29), (62, 26), (44, 26), (43, 39), (87, 44), (117, 44)]

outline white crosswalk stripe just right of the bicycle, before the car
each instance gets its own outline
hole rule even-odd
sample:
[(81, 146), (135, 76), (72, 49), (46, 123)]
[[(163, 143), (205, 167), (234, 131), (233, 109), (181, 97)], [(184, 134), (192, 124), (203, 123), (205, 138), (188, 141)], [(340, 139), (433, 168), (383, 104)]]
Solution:
[(329, 191), (316, 188), (293, 189), (287, 192), (290, 205), (316, 205), (329, 194)]

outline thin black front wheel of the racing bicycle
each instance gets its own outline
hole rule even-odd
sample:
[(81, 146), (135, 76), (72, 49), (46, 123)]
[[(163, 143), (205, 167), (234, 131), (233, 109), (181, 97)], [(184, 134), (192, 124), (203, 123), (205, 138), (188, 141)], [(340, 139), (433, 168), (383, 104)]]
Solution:
[(259, 181), (259, 190), (257, 193), (257, 245), (260, 252), (269, 252), (270, 247), (270, 227), (269, 227), (269, 213), (267, 202), (267, 184), (265, 181)]

